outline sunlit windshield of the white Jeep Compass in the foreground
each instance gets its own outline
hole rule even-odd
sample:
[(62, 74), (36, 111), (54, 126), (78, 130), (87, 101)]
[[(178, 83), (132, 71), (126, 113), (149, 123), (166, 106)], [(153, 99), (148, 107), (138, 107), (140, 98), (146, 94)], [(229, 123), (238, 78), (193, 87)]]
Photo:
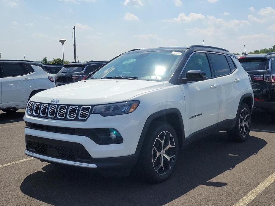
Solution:
[(171, 78), (184, 52), (158, 51), (126, 53), (105, 64), (90, 78), (136, 77), (139, 80), (166, 81)]

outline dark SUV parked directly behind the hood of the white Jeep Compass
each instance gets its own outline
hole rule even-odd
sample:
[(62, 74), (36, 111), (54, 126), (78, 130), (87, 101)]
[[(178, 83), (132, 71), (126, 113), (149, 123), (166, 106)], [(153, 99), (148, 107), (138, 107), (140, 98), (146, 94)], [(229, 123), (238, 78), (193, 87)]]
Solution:
[(56, 86), (84, 80), (89, 73), (94, 72), (108, 61), (85, 61), (64, 64), (56, 75)]

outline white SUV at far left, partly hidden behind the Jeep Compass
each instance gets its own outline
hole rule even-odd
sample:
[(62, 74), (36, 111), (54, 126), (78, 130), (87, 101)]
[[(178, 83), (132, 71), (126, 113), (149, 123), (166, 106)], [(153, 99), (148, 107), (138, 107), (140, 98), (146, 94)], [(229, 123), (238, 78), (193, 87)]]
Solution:
[(7, 113), (26, 108), (34, 94), (55, 87), (54, 77), (42, 64), (23, 60), (0, 60), (0, 110)]

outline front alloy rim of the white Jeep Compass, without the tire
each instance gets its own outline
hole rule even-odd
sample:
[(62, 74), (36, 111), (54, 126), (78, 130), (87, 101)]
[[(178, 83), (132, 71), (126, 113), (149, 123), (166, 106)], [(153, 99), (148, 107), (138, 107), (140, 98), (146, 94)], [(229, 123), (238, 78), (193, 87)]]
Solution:
[(162, 131), (156, 137), (152, 148), (152, 164), (158, 175), (170, 171), (176, 155), (175, 140), (169, 131)]

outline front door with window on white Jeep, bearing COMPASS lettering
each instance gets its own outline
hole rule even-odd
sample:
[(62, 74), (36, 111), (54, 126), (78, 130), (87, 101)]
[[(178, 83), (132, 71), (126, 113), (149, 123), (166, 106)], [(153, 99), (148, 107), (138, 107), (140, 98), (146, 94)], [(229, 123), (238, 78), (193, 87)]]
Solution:
[(181, 77), (185, 78), (186, 72), (190, 70), (204, 71), (206, 80), (180, 85), (185, 96), (187, 138), (193, 135), (200, 136), (215, 130), (219, 117), (219, 82), (213, 75), (207, 53), (191, 54)]

